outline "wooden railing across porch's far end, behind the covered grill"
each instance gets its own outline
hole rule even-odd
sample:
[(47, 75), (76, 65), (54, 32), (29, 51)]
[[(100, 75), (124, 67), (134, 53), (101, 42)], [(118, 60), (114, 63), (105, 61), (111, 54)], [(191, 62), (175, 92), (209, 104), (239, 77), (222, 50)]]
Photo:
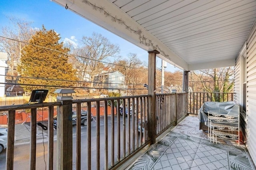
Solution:
[(235, 93), (188, 92), (188, 113), (198, 114), (204, 102), (234, 101)]

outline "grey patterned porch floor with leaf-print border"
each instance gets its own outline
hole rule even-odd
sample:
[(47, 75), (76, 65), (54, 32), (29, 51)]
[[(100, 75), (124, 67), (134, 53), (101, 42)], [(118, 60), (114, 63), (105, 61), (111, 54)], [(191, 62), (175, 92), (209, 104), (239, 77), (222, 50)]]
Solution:
[(211, 143), (188, 116), (138, 158), (130, 170), (255, 170), (246, 148)]

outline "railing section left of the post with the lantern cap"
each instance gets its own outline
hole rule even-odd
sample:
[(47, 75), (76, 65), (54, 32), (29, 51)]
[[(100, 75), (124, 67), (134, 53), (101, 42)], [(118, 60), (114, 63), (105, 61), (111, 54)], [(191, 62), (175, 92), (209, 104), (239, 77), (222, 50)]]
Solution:
[(48, 169), (53, 169), (53, 113), (54, 106), (61, 106), (61, 102), (50, 102), (44, 104), (24, 104), (24, 105), (12, 105), (12, 106), (1, 106), (0, 111), (8, 111), (8, 143), (6, 150), (6, 169), (22, 169), (18, 165), (14, 167), (14, 132), (15, 132), (15, 114), (17, 110), (30, 109), (30, 150), (25, 150), (29, 152), (30, 160), (27, 162), (30, 169), (36, 169), (36, 122), (37, 122), (37, 108), (44, 109), (48, 107)]

